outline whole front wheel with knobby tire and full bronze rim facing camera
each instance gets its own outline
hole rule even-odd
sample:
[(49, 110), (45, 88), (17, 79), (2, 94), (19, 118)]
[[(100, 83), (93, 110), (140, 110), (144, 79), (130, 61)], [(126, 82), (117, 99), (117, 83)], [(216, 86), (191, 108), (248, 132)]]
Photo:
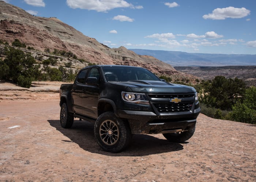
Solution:
[(132, 134), (128, 122), (113, 112), (101, 114), (94, 125), (94, 136), (102, 150), (117, 153), (127, 148)]

